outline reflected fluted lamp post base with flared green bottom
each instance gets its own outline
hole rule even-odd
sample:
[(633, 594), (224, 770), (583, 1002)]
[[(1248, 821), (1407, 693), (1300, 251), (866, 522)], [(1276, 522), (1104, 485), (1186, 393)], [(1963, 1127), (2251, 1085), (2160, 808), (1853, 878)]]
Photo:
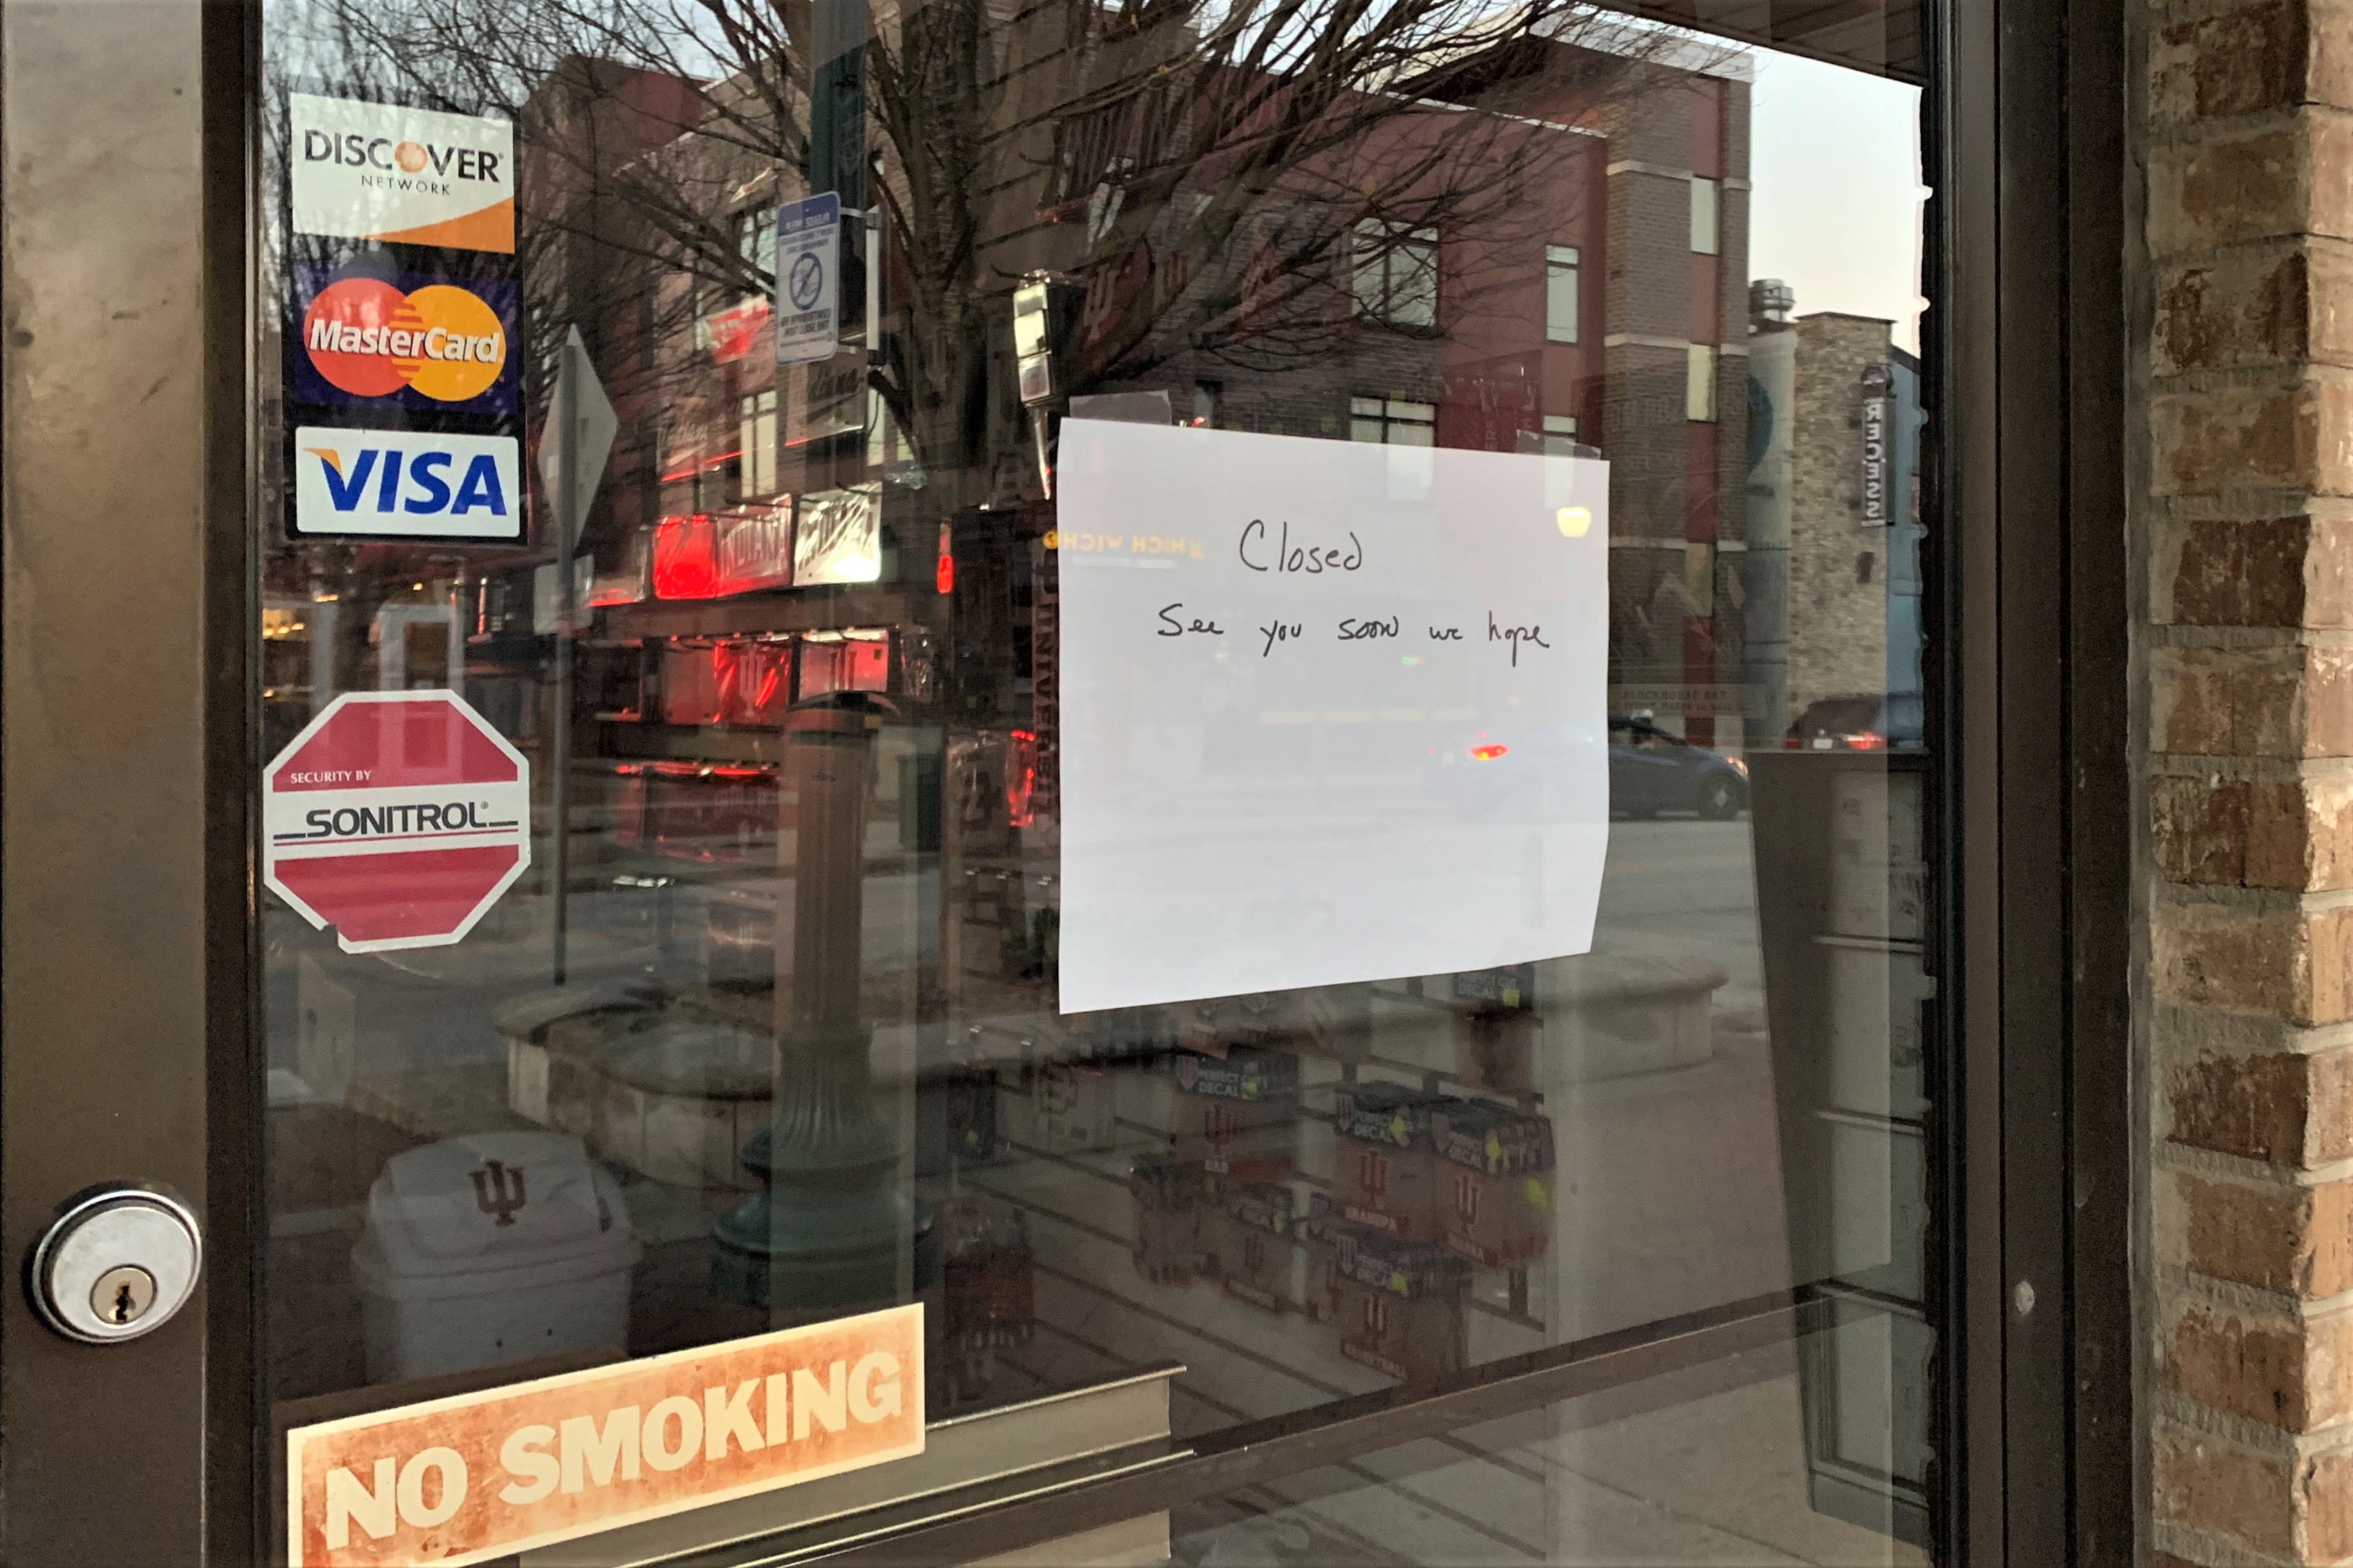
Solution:
[[(762, 1192), (713, 1232), (713, 1291), (767, 1307), (774, 1321), (840, 1316), (889, 1305), (901, 1251), (918, 1232), (899, 1190), (899, 1140), (875, 1114), (859, 1018), (866, 896), (866, 797), (875, 731), (889, 705), (833, 691), (786, 715), (793, 940), (776, 943), (776, 1098), (769, 1126), (744, 1150)], [(913, 1260), (922, 1288), (939, 1272)]]

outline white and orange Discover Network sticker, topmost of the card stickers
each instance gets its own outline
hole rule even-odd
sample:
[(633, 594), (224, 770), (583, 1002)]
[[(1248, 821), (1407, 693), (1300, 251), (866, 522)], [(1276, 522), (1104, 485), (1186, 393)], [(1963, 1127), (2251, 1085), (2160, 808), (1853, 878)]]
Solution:
[(289, 96), (299, 235), (515, 252), (515, 122), (402, 103)]

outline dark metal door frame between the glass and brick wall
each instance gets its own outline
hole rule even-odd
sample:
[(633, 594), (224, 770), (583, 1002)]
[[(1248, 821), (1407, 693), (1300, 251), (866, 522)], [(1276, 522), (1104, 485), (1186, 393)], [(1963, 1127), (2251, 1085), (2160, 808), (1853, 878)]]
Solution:
[(1958, 0), (1946, 40), (1953, 1559), (2132, 1563), (2129, 54), (2118, 0)]

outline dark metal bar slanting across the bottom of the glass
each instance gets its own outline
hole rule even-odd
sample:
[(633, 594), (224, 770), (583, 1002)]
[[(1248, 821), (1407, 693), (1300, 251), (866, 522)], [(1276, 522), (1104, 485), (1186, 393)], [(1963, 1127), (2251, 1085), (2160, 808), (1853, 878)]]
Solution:
[[(1814, 1321), (1791, 1293), (1755, 1295), (1640, 1328), (1497, 1361), (1435, 1389), (1358, 1399), (1219, 1432), (1148, 1472), (1024, 1497), (979, 1516), (913, 1526), (814, 1561), (828, 1568), (948, 1568), (1344, 1465), (1464, 1427), (1786, 1342)], [(758, 1552), (696, 1559), (755, 1568)]]

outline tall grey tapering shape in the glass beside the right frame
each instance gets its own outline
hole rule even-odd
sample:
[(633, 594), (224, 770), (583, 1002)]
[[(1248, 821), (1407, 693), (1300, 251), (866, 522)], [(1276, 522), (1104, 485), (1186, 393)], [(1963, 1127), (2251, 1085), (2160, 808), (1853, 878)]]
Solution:
[(1925, 757), (1751, 752), (1758, 936), (1817, 1512), (1927, 1544)]

